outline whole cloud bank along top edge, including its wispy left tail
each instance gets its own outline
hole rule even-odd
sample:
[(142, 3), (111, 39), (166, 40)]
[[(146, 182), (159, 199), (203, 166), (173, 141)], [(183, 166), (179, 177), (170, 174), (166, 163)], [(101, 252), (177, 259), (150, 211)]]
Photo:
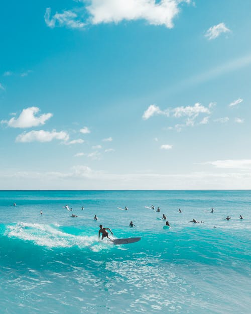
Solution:
[[(173, 20), (180, 12), (182, 4), (190, 0), (78, 0), (83, 7), (51, 15), (51, 8), (45, 12), (45, 23), (48, 27), (66, 26), (73, 29), (85, 25), (101, 23), (119, 23), (121, 21), (145, 20), (150, 25), (174, 27)], [(87, 18), (84, 16), (87, 15)]]

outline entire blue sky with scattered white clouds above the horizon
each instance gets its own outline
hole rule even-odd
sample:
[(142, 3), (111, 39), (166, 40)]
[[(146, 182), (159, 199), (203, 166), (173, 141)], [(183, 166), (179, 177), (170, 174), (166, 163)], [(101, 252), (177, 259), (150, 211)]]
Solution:
[(0, 189), (251, 189), (250, 11), (4, 0)]

